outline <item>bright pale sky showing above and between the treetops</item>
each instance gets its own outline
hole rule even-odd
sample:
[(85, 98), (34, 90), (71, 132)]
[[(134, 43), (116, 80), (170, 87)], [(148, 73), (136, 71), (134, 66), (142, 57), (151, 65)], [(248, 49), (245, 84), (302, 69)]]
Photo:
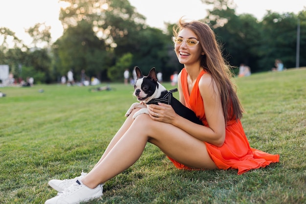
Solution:
[[(164, 23), (176, 23), (181, 16), (189, 19), (203, 19), (208, 6), (201, 0), (130, 0), (138, 13), (147, 18), (147, 24), (164, 29)], [(297, 14), (306, 7), (306, 0), (234, 0), (236, 13), (252, 14), (261, 20), (266, 10), (277, 13), (293, 12)], [(0, 27), (10, 28), (26, 45), (32, 39), (24, 29), (35, 23), (46, 23), (51, 26), (53, 42), (63, 34), (61, 22), (58, 20), (60, 4), (58, 0), (0, 0)], [(1, 43), (1, 41), (0, 41)]]

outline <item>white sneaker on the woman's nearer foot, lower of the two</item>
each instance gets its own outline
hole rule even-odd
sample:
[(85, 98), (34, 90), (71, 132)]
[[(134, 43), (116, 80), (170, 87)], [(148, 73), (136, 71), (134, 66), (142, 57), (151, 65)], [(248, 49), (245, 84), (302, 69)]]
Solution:
[(96, 188), (88, 188), (81, 181), (77, 180), (64, 191), (59, 192), (57, 196), (47, 200), (44, 204), (79, 204), (103, 195), (103, 185)]

